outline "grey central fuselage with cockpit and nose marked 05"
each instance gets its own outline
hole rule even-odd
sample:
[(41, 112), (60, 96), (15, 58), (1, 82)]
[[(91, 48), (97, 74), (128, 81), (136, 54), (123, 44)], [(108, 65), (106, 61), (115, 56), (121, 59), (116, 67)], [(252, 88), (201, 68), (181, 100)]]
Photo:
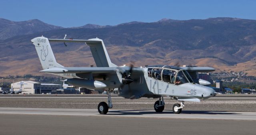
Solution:
[[(177, 97), (178, 100), (200, 101), (215, 95), (214, 89), (194, 83), (189, 73), (179, 67), (172, 66), (148, 66), (142, 68), (144, 76), (131, 76), (135, 81), (129, 84), (132, 91), (130, 95), (127, 87), (121, 89), (121, 96), (129, 98), (140, 97)], [(144, 82), (145, 81), (145, 82)], [(184, 101), (183, 100), (183, 101)]]

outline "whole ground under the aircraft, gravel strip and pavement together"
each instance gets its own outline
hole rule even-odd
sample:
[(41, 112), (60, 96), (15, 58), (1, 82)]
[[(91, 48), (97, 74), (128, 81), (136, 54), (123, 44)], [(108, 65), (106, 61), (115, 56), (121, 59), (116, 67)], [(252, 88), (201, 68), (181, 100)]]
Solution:
[(0, 96), (0, 135), (255, 135), (256, 97), (212, 97), (186, 102), (174, 114), (175, 100), (112, 97), (113, 109), (100, 115), (106, 96)]

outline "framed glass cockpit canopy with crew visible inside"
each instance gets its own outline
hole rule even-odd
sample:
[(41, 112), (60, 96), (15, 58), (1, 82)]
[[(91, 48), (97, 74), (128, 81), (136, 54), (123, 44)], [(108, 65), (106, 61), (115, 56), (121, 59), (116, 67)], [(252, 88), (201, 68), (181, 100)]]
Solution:
[(148, 77), (172, 83), (174, 85), (194, 83), (189, 73), (179, 67), (148, 66)]

